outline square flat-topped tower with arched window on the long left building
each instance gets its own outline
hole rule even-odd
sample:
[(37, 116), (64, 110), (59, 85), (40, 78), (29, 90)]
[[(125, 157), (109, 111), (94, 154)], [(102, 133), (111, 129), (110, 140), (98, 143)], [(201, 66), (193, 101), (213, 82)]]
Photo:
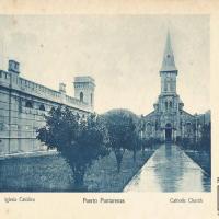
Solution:
[(94, 106), (95, 81), (89, 76), (74, 77), (74, 97), (83, 103)]

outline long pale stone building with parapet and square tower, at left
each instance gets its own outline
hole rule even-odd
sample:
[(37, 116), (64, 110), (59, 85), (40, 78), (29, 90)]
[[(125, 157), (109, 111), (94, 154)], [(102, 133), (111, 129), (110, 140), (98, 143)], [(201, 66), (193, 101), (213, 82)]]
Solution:
[(9, 60), (0, 70), (0, 155), (45, 150), (36, 139), (36, 129), (45, 124), (51, 107), (69, 106), (76, 114), (93, 112), (95, 82), (91, 77), (74, 78), (74, 97), (66, 94), (66, 84), (51, 90), (20, 77), (20, 65)]

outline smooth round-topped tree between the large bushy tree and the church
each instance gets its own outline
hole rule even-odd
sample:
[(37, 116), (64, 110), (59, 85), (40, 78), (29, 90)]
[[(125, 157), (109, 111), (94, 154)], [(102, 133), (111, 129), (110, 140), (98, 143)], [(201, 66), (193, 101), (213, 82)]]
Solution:
[(115, 153), (117, 171), (120, 172), (123, 155), (126, 149), (134, 151), (136, 159), (137, 132), (135, 119), (137, 116), (127, 110), (112, 110), (103, 115), (108, 134), (110, 147)]

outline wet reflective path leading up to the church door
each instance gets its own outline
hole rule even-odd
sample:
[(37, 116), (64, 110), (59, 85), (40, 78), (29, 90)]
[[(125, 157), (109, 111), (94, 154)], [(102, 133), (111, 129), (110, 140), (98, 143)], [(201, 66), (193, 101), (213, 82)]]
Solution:
[(210, 176), (175, 145), (162, 145), (124, 192), (210, 192)]

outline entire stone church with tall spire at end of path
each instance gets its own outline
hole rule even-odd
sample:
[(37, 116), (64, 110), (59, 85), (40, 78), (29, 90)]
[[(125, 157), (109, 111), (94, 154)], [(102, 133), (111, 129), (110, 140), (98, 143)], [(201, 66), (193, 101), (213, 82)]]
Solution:
[(176, 92), (177, 74), (171, 37), (168, 33), (160, 70), (161, 92), (153, 104), (153, 112), (142, 116), (146, 139), (176, 141), (182, 138), (197, 140), (200, 137), (200, 115), (192, 115), (184, 110), (184, 103)]

